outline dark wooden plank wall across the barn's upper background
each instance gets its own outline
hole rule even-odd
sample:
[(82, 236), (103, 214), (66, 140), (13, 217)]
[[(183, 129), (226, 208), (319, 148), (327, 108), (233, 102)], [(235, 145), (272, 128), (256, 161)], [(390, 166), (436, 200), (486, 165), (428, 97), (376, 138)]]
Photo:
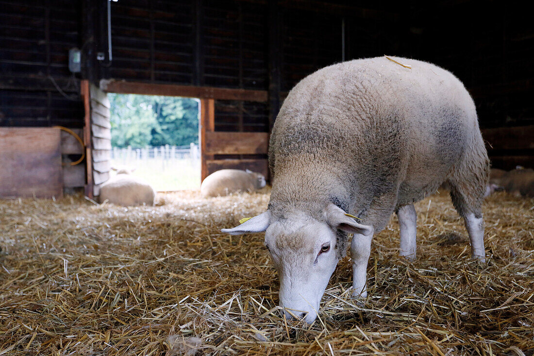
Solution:
[[(464, 81), (481, 127), (534, 123), (534, 29), (512, 3), (120, 0), (111, 62), (106, 6), (0, 0), (0, 126), (81, 127), (79, 80), (88, 78), (268, 91), (268, 102), (215, 102), (216, 131), (265, 132), (296, 82), (343, 59), (342, 28), (345, 60), (431, 61)], [(71, 47), (86, 55), (81, 75), (68, 72)]]

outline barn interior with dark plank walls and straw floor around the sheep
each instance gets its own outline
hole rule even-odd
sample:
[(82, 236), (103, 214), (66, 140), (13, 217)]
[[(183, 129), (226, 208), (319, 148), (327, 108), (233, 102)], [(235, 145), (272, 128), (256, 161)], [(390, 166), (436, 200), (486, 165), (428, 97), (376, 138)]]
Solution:
[(484, 266), (446, 192), (415, 205), (413, 262), (393, 214), (373, 239), (370, 297), (351, 299), (344, 257), (311, 326), (279, 313), (263, 235), (220, 231), (264, 212), (269, 187), (97, 203), (108, 93), (198, 98), (201, 179), (269, 180), (295, 84), (379, 56), (451, 71), (492, 167), (534, 168), (534, 26), (516, 2), (0, 0), (0, 355), (533, 355), (532, 198), (485, 200)]

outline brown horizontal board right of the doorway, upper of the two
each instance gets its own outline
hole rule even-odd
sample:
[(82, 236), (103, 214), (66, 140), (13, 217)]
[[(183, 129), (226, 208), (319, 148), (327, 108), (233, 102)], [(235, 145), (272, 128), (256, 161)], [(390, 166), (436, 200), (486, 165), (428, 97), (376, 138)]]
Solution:
[(207, 132), (206, 154), (266, 154), (269, 134), (266, 132)]

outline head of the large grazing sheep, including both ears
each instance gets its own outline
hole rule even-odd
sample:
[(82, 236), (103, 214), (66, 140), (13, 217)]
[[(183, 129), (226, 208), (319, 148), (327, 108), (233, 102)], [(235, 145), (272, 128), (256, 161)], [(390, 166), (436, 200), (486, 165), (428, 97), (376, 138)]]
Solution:
[(317, 318), (328, 280), (342, 256), (337, 251), (338, 230), (359, 234), (372, 230), (334, 204), (323, 215), (323, 221), (300, 211), (273, 218), (268, 210), (238, 227), (222, 229), (232, 235), (265, 231), (265, 246), (280, 277), (280, 306), (288, 318), (304, 317), (307, 323)]

